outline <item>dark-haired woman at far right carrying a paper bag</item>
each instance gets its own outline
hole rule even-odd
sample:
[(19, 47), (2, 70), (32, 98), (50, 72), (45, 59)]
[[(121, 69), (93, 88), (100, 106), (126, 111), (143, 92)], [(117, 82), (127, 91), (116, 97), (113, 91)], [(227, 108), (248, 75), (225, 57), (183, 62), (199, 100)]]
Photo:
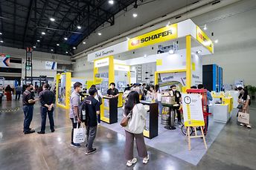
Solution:
[[(239, 111), (249, 114), (250, 96), (248, 91), (242, 87), (237, 88), (237, 90), (239, 91), (238, 103), (243, 106)], [(252, 128), (252, 125), (250, 124), (240, 123), (240, 125)]]

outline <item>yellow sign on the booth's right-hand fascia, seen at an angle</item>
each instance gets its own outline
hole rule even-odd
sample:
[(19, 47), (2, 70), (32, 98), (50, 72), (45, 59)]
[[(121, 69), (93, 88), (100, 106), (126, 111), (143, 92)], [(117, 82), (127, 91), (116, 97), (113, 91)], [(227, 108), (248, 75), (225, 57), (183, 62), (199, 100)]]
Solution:
[(201, 30), (198, 26), (196, 26), (196, 39), (199, 41), (202, 45), (205, 46), (208, 50), (211, 51), (211, 53), (214, 52), (214, 43), (209, 39), (209, 37), (206, 35), (205, 32)]

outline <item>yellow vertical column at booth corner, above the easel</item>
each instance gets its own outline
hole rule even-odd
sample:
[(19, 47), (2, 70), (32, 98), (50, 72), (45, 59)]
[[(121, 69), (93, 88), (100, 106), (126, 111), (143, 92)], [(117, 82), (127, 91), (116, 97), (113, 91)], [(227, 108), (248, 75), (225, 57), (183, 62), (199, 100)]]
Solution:
[(191, 36), (186, 36), (186, 88), (191, 88)]

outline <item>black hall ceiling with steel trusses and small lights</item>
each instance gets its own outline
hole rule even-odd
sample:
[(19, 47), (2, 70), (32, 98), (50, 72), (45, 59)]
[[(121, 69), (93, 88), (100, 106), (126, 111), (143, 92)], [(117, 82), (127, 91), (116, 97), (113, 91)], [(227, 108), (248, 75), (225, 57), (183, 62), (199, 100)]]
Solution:
[(135, 1), (0, 0), (0, 45), (70, 54), (100, 25), (115, 24), (115, 14)]

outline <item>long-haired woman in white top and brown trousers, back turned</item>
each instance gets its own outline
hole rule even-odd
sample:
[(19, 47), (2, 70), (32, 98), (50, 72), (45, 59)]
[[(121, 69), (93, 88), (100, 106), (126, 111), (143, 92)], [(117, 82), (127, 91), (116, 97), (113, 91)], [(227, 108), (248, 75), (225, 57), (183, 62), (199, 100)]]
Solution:
[(132, 166), (132, 164), (137, 162), (137, 159), (133, 157), (134, 138), (138, 156), (143, 157), (143, 163), (146, 164), (150, 160), (143, 136), (144, 120), (146, 119), (147, 111), (140, 103), (137, 91), (129, 93), (128, 100), (124, 106), (124, 117), (127, 117), (130, 113), (132, 117), (129, 119), (128, 125), (124, 127), (126, 137), (124, 153), (127, 159), (127, 166)]

